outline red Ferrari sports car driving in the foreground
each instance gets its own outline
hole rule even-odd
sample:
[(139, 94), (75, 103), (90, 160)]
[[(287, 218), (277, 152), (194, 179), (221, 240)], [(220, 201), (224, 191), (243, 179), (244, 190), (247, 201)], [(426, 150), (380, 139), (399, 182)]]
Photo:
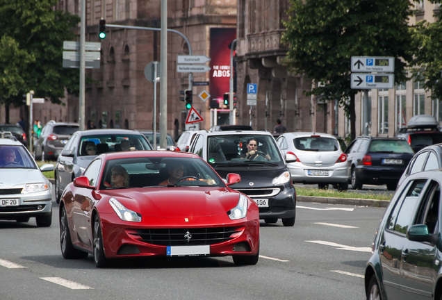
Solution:
[(60, 199), (64, 258), (94, 256), (97, 267), (136, 256), (259, 259), (259, 210), (202, 158), (172, 151), (101, 154)]

